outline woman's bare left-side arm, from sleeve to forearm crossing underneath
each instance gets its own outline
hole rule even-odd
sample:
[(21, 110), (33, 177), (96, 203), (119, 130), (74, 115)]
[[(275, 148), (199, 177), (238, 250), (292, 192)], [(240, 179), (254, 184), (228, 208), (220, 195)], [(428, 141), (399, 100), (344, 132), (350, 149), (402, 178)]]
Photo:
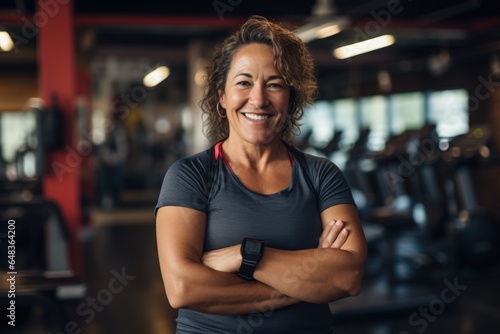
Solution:
[(258, 281), (202, 264), (205, 214), (167, 206), (156, 218), (157, 246), (165, 291), (173, 308), (212, 314), (245, 314), (297, 303)]

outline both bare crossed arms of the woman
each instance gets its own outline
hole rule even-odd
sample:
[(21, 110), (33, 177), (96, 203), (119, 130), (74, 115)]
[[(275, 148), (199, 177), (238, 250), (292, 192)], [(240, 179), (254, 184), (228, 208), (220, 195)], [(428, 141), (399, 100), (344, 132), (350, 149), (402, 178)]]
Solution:
[(235, 273), (240, 245), (203, 252), (206, 216), (165, 206), (156, 218), (158, 256), (165, 291), (174, 308), (212, 314), (246, 314), (272, 303), (328, 303), (357, 295), (366, 260), (366, 241), (356, 208), (332, 206), (321, 213), (318, 247), (284, 251), (266, 247), (254, 280)]

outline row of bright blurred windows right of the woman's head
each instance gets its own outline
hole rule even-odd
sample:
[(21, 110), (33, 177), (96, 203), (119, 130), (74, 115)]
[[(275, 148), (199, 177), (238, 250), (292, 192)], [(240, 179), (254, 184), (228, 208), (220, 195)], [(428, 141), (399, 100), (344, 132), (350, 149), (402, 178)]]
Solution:
[[(309, 152), (327, 155), (342, 168), (361, 129), (370, 131), (366, 145), (371, 151), (383, 150), (390, 136), (421, 129), (426, 124), (436, 125), (444, 141), (466, 133), (468, 93), (465, 89), (451, 89), (323, 100), (306, 110), (302, 123), (303, 137), (298, 141), (310, 134), (305, 143)], [(335, 150), (324, 150), (335, 135), (340, 135)]]

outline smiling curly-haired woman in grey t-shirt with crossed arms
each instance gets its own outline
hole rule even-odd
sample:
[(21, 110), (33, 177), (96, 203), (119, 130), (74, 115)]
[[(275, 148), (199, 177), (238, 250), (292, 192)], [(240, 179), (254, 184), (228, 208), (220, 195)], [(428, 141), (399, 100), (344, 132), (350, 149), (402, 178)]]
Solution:
[(169, 168), (156, 211), (177, 333), (332, 333), (328, 303), (359, 293), (350, 189), (292, 145), (315, 92), (305, 45), (262, 17), (215, 50), (201, 106), (217, 143)]

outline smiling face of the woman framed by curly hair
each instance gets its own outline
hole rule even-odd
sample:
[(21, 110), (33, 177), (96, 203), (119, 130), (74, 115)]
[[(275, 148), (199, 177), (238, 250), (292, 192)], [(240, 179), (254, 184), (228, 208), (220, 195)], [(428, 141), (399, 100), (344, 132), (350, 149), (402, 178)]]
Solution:
[(289, 100), (290, 87), (274, 67), (270, 46), (249, 44), (236, 52), (220, 98), (231, 139), (256, 145), (279, 139)]

